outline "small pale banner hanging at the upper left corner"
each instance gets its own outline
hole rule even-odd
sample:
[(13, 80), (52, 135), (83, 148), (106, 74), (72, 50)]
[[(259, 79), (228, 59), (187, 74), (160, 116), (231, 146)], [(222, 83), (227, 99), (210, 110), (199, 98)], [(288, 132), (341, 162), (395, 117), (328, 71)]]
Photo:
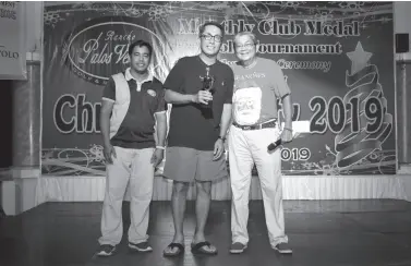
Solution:
[(0, 1), (0, 80), (25, 80), (24, 2)]

